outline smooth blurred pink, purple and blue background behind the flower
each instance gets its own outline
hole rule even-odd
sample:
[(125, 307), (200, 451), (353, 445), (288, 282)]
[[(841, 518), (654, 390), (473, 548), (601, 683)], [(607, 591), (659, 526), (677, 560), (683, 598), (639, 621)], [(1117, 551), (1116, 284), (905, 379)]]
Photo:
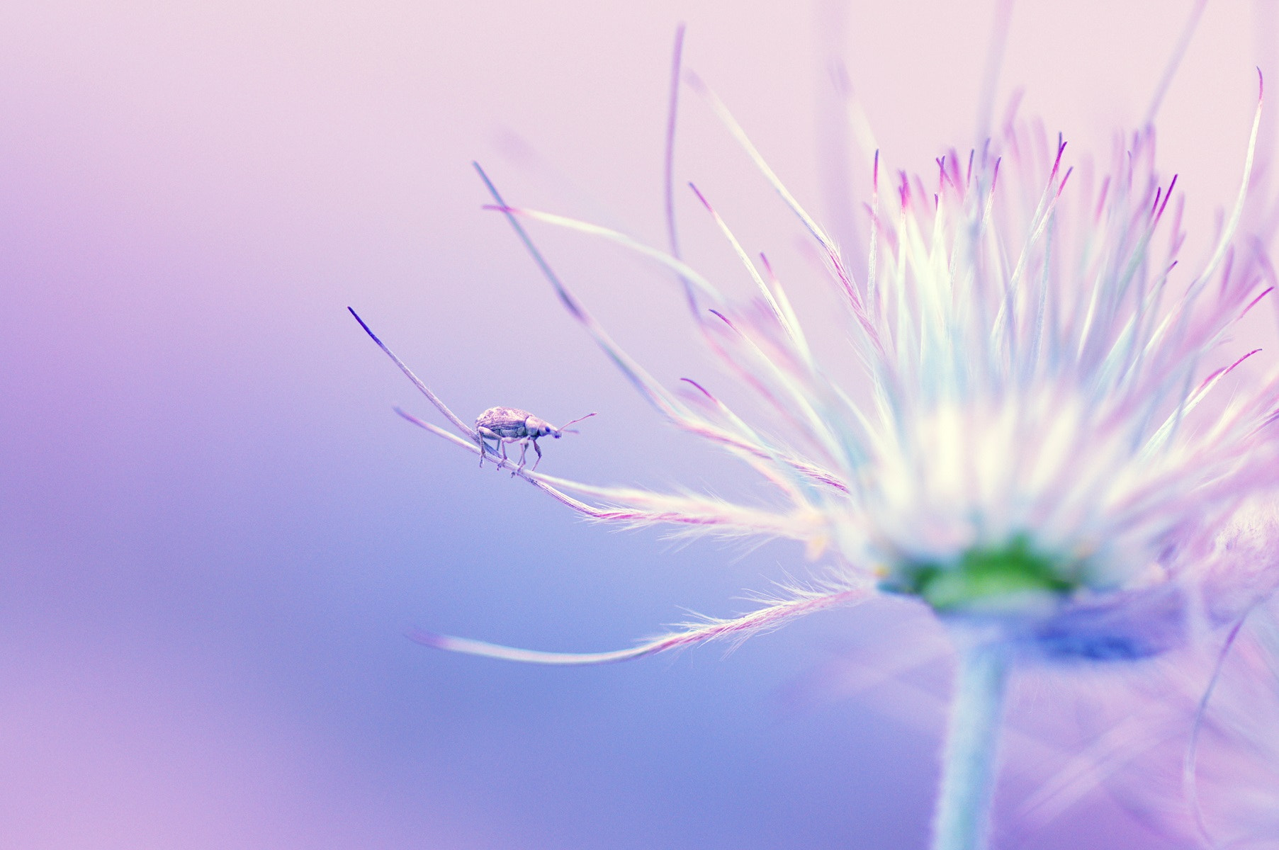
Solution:
[[(409, 643), (417, 624), (615, 648), (803, 566), (610, 533), (477, 474), (391, 414), (428, 409), (344, 309), (463, 415), (600, 410), (550, 444), (554, 472), (730, 486), (559, 311), (469, 161), (512, 201), (660, 242), (679, 20), (688, 65), (822, 215), (836, 47), (895, 162), (968, 143), (991, 8), (783, 6), (0, 6), (0, 846), (925, 845), (940, 712), (828, 679), (926, 642), (900, 607), (609, 668)], [(1027, 4), (1001, 92), (1104, 152), (1187, 9)], [(1234, 192), (1252, 27), (1210, 6), (1165, 102), (1192, 224)], [(752, 247), (792, 239), (694, 97), (684, 116), (680, 176), (744, 212)], [(541, 239), (659, 376), (696, 368), (657, 276)], [(1001, 810), (1028, 790), (1008, 777)], [(1018, 846), (1143, 844), (1168, 846), (1099, 791)]]

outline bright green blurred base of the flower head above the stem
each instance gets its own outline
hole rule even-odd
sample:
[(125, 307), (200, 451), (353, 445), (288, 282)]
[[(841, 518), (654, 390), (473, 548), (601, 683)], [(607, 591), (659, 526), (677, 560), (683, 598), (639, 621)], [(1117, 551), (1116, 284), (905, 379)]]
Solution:
[(918, 596), (943, 614), (1003, 610), (1021, 599), (1069, 593), (1079, 587), (1071, 575), (1077, 571), (1077, 564), (1036, 551), (1030, 537), (1017, 534), (1001, 546), (975, 546), (949, 564), (904, 564), (881, 587)]

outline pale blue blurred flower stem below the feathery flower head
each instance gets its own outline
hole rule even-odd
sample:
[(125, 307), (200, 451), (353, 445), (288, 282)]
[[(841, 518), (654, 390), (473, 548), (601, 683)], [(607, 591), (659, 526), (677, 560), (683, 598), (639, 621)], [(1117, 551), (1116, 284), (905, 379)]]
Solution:
[(1005, 648), (975, 643), (959, 652), (932, 850), (985, 850), (1003, 722)]

